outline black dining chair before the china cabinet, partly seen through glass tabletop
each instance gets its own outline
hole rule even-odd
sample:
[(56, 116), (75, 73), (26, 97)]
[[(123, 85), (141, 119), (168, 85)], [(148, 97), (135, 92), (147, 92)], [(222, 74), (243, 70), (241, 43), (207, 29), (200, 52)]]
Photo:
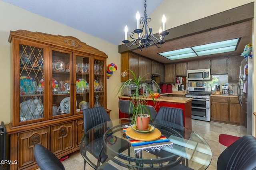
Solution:
[[(101, 123), (110, 121), (108, 113), (106, 112), (104, 107), (93, 107), (93, 108), (84, 109), (83, 117), (84, 117), (84, 132), (87, 132), (90, 128), (93, 128)], [(90, 146), (90, 145), (93, 145), (90, 142), (86, 143), (88, 152), (90, 152), (95, 158), (98, 158), (97, 167), (100, 166), (100, 162), (104, 163), (108, 158), (108, 156), (105, 154), (103, 150), (104, 148), (103, 135), (105, 130), (111, 127), (102, 127), (102, 128), (106, 128), (106, 129), (98, 129), (97, 131), (94, 132), (94, 146), (97, 146), (97, 147)], [(129, 147), (128, 141), (120, 139), (118, 137), (117, 137), (117, 143), (121, 144), (122, 145), (121, 148), (124, 150)], [(120, 150), (120, 152), (121, 151), (122, 150)], [(85, 170), (85, 166), (86, 166), (86, 161), (84, 160), (84, 170)]]

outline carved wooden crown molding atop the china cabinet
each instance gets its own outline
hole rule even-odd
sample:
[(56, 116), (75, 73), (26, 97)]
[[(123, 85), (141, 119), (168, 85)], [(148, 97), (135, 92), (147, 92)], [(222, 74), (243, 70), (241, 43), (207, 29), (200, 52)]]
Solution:
[(30, 32), (27, 30), (10, 31), (10, 37), (8, 42), (12, 41), (12, 38), (23, 38), (32, 40), (35, 42), (46, 43), (48, 45), (58, 45), (60, 47), (69, 48), (72, 50), (88, 53), (89, 55), (98, 55), (100, 57), (108, 58), (108, 55), (103, 51), (100, 51), (84, 42), (81, 42), (78, 38), (73, 36), (60, 36), (51, 35), (42, 32)]

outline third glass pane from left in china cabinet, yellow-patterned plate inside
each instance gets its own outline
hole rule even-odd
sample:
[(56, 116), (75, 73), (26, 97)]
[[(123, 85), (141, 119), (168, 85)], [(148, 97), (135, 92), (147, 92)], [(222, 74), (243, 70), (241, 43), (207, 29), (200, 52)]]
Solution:
[(75, 85), (75, 91), (76, 91), (76, 108), (75, 108), (75, 114), (82, 114), (82, 111), (84, 109), (87, 109), (90, 107), (89, 103), (89, 81), (90, 81), (90, 56), (88, 55), (82, 55), (78, 53), (74, 53), (75, 56), (75, 65), (74, 67), (76, 69), (75, 76), (76, 79), (74, 80)]

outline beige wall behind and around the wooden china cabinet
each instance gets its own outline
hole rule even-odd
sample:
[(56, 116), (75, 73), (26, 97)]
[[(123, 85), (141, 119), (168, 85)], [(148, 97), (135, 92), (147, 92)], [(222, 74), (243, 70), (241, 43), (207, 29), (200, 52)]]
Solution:
[[(88, 34), (84, 34), (78, 30), (54, 22), (52, 20), (43, 18), (34, 13), (28, 12), (11, 4), (0, 1), (0, 121), (5, 124), (10, 123), (10, 109), (11, 109), (11, 88), (10, 79), (10, 43), (8, 42), (10, 30), (28, 30), (32, 32), (44, 32), (47, 34), (74, 36), (82, 42), (91, 45), (100, 51), (104, 51), (108, 55), (108, 63), (116, 63), (120, 67), (120, 54), (118, 53), (118, 46), (106, 41), (100, 40)], [(26, 18), (26, 19), (25, 19)], [(119, 73), (118, 73), (119, 72)], [(107, 79), (107, 94), (108, 94), (108, 109), (111, 109), (111, 119), (118, 118), (118, 98), (116, 97), (115, 86), (120, 85), (120, 71), (113, 73), (110, 79)]]

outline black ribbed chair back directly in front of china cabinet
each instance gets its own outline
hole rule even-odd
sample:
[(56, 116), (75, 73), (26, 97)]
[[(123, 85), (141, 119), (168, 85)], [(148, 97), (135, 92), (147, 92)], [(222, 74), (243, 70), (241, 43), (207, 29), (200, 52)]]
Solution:
[(108, 113), (104, 107), (92, 107), (83, 110), (84, 116), (84, 132), (88, 131), (90, 128), (95, 127), (106, 121), (110, 121)]

